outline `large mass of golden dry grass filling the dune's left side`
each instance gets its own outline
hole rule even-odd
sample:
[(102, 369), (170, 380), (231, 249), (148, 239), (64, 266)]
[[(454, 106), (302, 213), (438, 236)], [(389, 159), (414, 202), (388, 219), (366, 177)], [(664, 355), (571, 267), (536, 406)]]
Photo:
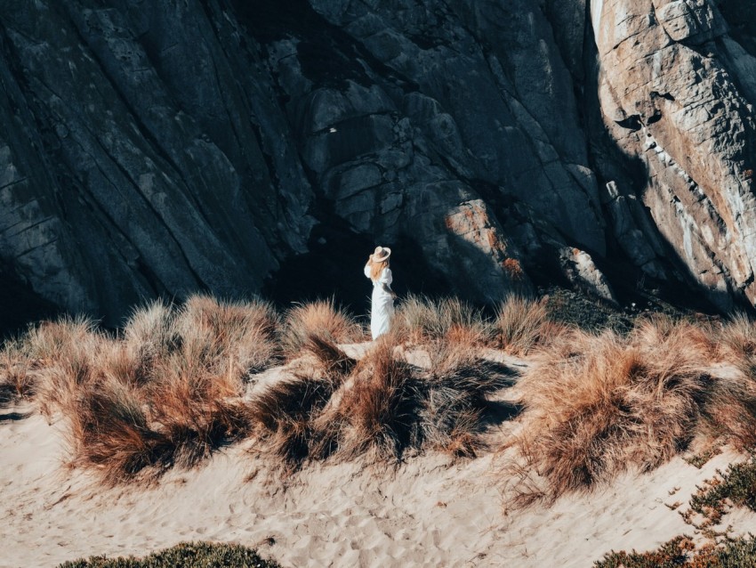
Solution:
[(73, 463), (115, 483), (191, 467), (248, 434), (239, 395), (277, 361), (277, 322), (258, 300), (158, 301), (133, 312), (118, 337), (86, 319), (44, 322), (6, 344), (0, 364), (6, 377), (33, 381), (48, 417), (68, 420)]

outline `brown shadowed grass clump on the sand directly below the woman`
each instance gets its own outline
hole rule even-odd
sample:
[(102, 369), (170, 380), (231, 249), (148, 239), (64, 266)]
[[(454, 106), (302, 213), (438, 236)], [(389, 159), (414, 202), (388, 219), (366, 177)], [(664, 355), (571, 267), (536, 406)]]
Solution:
[(312, 336), (317, 361), (250, 402), (263, 441), (287, 470), (306, 459), (400, 458), (430, 448), (472, 457), (487, 426), (487, 394), (511, 385), (511, 372), (479, 357), (479, 350), (445, 340), (434, 345), (431, 368), (408, 364), (381, 337), (355, 361), (337, 345)]

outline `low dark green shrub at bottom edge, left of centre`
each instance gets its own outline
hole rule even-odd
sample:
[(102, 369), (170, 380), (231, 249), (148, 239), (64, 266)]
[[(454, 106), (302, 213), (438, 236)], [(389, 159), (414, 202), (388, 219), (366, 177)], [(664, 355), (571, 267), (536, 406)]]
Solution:
[(182, 542), (143, 558), (92, 556), (60, 564), (58, 568), (280, 568), (253, 548), (217, 542)]

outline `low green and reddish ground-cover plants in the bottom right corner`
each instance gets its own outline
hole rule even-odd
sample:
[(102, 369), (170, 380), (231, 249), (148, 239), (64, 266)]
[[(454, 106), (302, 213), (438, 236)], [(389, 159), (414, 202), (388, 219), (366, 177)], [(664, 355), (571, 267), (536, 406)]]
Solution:
[(594, 568), (742, 568), (756, 565), (756, 538), (731, 539), (720, 545), (696, 548), (683, 535), (650, 552), (610, 552), (596, 561)]

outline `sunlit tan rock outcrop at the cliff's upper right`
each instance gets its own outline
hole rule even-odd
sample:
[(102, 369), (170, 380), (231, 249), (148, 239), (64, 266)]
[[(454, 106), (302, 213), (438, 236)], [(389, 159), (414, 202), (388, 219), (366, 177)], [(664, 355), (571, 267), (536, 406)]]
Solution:
[(733, 42), (708, 0), (606, 0), (591, 19), (606, 126), (646, 168), (656, 227), (713, 301), (753, 302), (756, 124), (739, 73), (756, 61), (741, 50), (728, 67)]

